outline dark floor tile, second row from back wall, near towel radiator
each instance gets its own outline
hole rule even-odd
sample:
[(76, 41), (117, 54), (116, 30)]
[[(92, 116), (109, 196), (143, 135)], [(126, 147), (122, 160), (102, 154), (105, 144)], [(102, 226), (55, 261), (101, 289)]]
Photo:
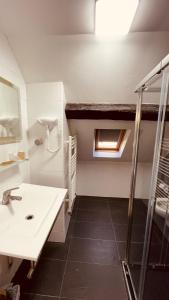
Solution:
[(111, 214), (109, 210), (77, 210), (77, 221), (83, 222), (97, 222), (97, 223), (111, 223)]

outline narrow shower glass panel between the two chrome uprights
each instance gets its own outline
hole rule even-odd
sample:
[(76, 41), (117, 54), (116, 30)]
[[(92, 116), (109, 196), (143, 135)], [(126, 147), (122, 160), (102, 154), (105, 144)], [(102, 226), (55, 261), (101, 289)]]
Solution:
[[(160, 92), (161, 76), (143, 93), (141, 103), (141, 122), (133, 198), (131, 239), (128, 253), (128, 266), (136, 297), (139, 295)], [(148, 115), (146, 113), (147, 105), (151, 105), (152, 114), (150, 113)], [(156, 231), (156, 228), (154, 228), (153, 225), (153, 232), (154, 230)], [(154, 246), (158, 242), (156, 234), (156, 232), (153, 233), (152, 243)]]

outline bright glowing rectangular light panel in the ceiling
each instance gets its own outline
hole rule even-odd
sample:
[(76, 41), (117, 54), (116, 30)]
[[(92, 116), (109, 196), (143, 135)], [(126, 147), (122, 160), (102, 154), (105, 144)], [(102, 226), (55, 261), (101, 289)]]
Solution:
[(95, 33), (125, 35), (129, 32), (139, 0), (97, 0)]

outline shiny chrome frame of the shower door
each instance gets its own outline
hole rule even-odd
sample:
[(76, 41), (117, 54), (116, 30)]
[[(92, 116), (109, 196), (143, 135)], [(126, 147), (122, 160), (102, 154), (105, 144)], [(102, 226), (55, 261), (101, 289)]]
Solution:
[[(162, 73), (163, 72), (163, 73)], [(146, 220), (146, 230), (144, 238), (144, 248), (143, 248), (143, 257), (141, 262), (141, 273), (140, 273), (140, 282), (139, 282), (139, 292), (138, 297), (134, 288), (134, 283), (132, 281), (132, 276), (130, 273), (129, 267), (129, 253), (131, 245), (131, 235), (132, 235), (132, 224), (133, 224), (133, 204), (134, 204), (134, 192), (136, 184), (136, 173), (137, 173), (137, 164), (138, 164), (138, 149), (139, 149), (139, 136), (140, 136), (140, 124), (141, 124), (141, 105), (143, 93), (151, 91), (151, 84), (157, 80), (162, 73), (162, 85), (160, 92), (160, 104), (158, 112), (158, 124), (156, 130), (156, 140), (155, 140), (155, 150), (153, 157), (153, 168), (152, 168), (152, 179), (149, 192), (149, 204), (148, 204), (148, 213)], [(126, 281), (126, 286), (128, 290), (128, 295), (130, 300), (142, 300), (144, 293), (144, 283), (146, 276), (146, 266), (148, 262), (148, 250), (150, 245), (151, 238), (151, 228), (152, 228), (152, 217), (154, 212), (154, 197), (153, 197), (153, 185), (157, 178), (156, 167), (159, 160), (161, 142), (162, 142), (162, 133), (164, 126), (164, 118), (166, 112), (166, 104), (168, 97), (168, 88), (169, 88), (169, 55), (167, 55), (136, 87), (135, 93), (139, 94), (139, 100), (137, 102), (136, 109), (136, 118), (135, 118), (135, 133), (134, 133), (134, 142), (133, 142), (133, 155), (132, 155), (132, 172), (131, 172), (131, 184), (130, 184), (130, 196), (129, 196), (129, 207), (128, 207), (128, 232), (127, 232), (127, 246), (126, 246), (126, 255), (125, 260), (122, 262), (124, 277)], [(152, 92), (156, 92), (152, 89)]]

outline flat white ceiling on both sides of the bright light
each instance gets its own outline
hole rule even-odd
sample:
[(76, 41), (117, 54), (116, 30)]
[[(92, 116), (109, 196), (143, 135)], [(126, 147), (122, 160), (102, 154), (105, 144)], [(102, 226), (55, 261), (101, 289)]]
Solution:
[[(101, 0), (100, 0), (101, 1)], [(168, 31), (169, 0), (140, 0), (131, 31)], [(0, 0), (0, 28), (25, 33), (94, 33), (95, 0)]]

